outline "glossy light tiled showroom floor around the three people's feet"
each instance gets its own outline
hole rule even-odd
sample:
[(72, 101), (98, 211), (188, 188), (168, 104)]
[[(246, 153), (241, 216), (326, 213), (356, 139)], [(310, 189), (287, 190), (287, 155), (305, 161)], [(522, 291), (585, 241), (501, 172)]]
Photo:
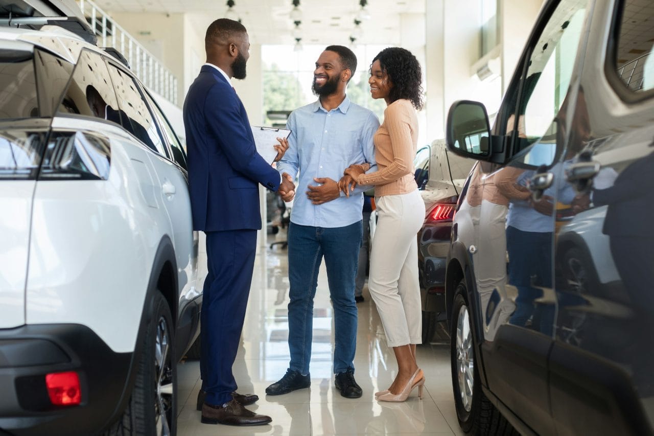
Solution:
[(405, 403), (383, 403), (375, 391), (388, 388), (397, 367), (375, 305), (364, 288), (366, 301), (359, 313), (356, 348), (356, 381), (364, 395), (346, 399), (334, 388), (332, 374), (332, 307), (326, 272), (318, 278), (315, 298), (311, 388), (287, 395), (266, 396), (266, 387), (283, 376), (288, 367), (288, 278), (286, 250), (257, 255), (241, 350), (233, 371), (238, 390), (256, 393), (260, 400), (248, 408), (267, 414), (267, 426), (231, 427), (200, 423), (196, 397), (200, 387), (198, 361), (178, 365), (178, 434), (191, 435), (453, 435), (460, 434), (452, 397), (449, 346), (428, 344), (417, 349), (418, 363), (426, 376), (422, 400), (417, 390)]

